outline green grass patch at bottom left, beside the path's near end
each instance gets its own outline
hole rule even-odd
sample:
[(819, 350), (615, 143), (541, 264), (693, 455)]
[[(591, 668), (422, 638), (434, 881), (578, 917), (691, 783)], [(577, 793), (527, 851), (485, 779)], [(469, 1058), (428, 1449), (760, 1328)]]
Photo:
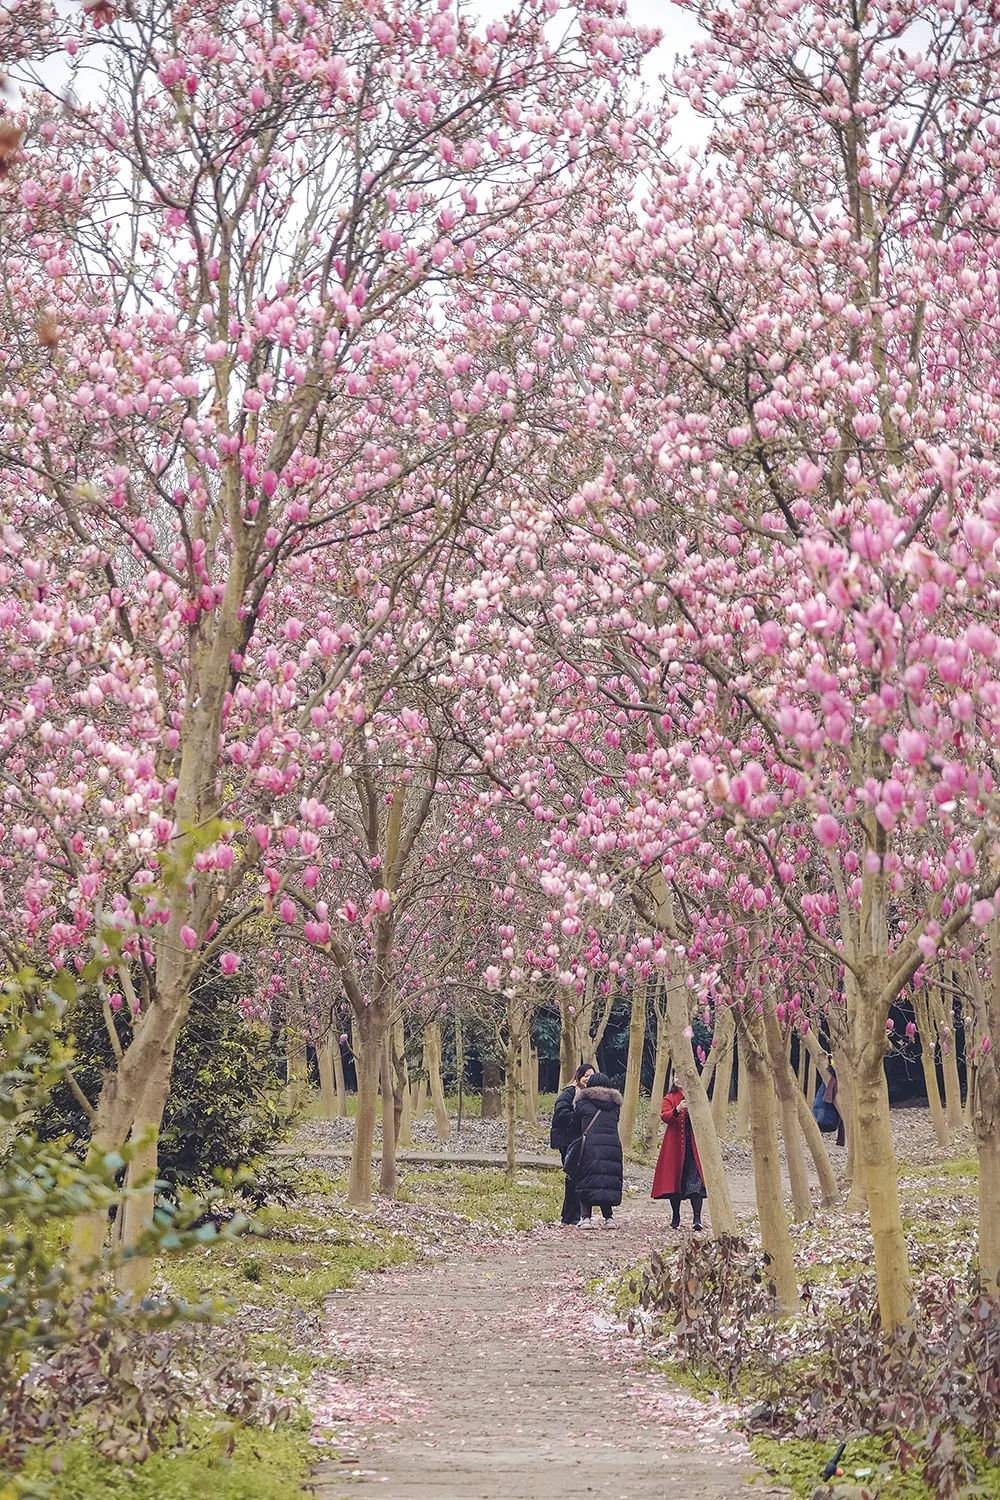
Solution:
[(34, 1454), (21, 1478), (46, 1500), (301, 1500), (315, 1461), (306, 1436), (298, 1422), (259, 1431), (190, 1418), (177, 1444), (142, 1464), (111, 1462), (81, 1437), (58, 1449), (55, 1472)]

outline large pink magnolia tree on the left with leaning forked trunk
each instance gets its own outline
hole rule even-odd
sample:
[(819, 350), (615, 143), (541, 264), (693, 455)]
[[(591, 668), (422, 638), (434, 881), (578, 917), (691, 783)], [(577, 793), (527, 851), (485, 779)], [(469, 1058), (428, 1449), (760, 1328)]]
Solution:
[(502, 441), (511, 376), (456, 410), (439, 302), (583, 190), (645, 45), (616, 0), (561, 42), (555, 10), (148, 3), (31, 39), (0, 206), (4, 656), (31, 684), (3, 900), (126, 992), (100, 1150), (154, 1138), (190, 982), (237, 962), (220, 914), (279, 894), (273, 810), (321, 800), (364, 720), (367, 579), (381, 612), (451, 536), (471, 441)]

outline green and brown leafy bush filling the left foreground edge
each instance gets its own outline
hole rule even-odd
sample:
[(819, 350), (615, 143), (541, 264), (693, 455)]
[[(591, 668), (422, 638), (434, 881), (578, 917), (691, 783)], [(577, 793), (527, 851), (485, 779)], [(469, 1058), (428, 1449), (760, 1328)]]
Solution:
[[(63, 994), (72, 981), (61, 982)], [(39, 1443), (85, 1428), (96, 1449), (115, 1460), (145, 1458), (190, 1410), (205, 1401), (226, 1418), (258, 1416), (262, 1392), (249, 1366), (213, 1340), (214, 1354), (190, 1348), (198, 1332), (175, 1328), (210, 1308), (118, 1298), (106, 1275), (123, 1252), (72, 1268), (66, 1245), (73, 1221), (103, 1215), (120, 1202), (123, 1156), (82, 1162), (25, 1128), (64, 1082), (72, 1054), (58, 1042), (61, 1000), (33, 975), (0, 994), (0, 1466), (16, 1472)], [(220, 1233), (199, 1224), (205, 1204), (162, 1204), (139, 1254), (187, 1250), (235, 1238), (246, 1221)], [(81, 1290), (82, 1287), (82, 1290)], [(192, 1377), (192, 1366), (198, 1376)], [(6, 1491), (4, 1491), (6, 1492)], [(30, 1494), (18, 1482), (15, 1494)]]

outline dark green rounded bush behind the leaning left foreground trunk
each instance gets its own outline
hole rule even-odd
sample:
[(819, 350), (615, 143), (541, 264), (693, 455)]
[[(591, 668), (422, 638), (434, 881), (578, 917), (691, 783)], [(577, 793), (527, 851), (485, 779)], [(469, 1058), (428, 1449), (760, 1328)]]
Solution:
[[(114, 1018), (124, 1042), (129, 1020)], [(84, 993), (67, 1016), (75, 1053), (73, 1076), (94, 1100), (102, 1074), (112, 1065), (111, 1036), (96, 996)], [(175, 1191), (207, 1191), (219, 1173), (262, 1164), (288, 1125), (282, 1078), (270, 1032), (240, 1014), (235, 980), (211, 974), (192, 994), (190, 1012), (177, 1042), (171, 1090), (159, 1140), (159, 1176)], [(87, 1118), (63, 1082), (37, 1116), (40, 1136), (87, 1140)], [(264, 1168), (259, 1197), (280, 1197), (283, 1178)], [(255, 1196), (250, 1186), (244, 1192)]]

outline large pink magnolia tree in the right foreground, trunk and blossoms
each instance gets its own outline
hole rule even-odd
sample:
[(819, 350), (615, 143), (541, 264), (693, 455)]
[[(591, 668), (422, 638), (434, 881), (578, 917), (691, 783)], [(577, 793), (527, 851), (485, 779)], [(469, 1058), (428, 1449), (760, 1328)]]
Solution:
[[(639, 122), (642, 208), (616, 202), (598, 243), (571, 238), (531, 282), (573, 356), (576, 411), (561, 504), (540, 476), (498, 537), (520, 610), (505, 692), (525, 699), (558, 663), (616, 710), (604, 735), (631, 736), (610, 768), (628, 798), (597, 760), (589, 806), (568, 794), (571, 830), (603, 825), (600, 850), (553, 840), (570, 916), (615, 886), (618, 850), (681, 944), (667, 897), (712, 828), (753, 909), (781, 903), (843, 972), (840, 1059), (892, 1328), (910, 1278), (889, 1010), (996, 920), (993, 12), (688, 8), (706, 34), (673, 88), (709, 120), (705, 159), (675, 160)], [(537, 710), (522, 717), (538, 732)], [(594, 746), (591, 705), (567, 693), (553, 729)], [(981, 981), (988, 1017), (985, 996)], [(996, 1196), (990, 1078), (978, 1142)], [(996, 1274), (988, 1228), (982, 1264)]]

